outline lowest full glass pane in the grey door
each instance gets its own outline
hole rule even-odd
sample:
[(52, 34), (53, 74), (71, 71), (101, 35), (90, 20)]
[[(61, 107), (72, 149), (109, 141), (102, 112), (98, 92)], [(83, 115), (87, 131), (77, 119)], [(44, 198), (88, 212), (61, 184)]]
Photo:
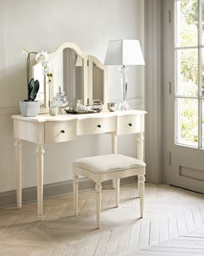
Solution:
[(177, 143), (198, 146), (198, 101), (177, 99)]

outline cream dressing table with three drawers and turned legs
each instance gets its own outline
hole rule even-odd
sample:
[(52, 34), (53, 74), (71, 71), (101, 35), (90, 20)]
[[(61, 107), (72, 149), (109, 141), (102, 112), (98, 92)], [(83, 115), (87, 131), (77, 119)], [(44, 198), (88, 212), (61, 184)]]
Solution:
[(16, 201), (22, 207), (22, 141), (36, 144), (37, 214), (43, 214), (44, 143), (77, 140), (80, 135), (112, 135), (112, 153), (117, 152), (117, 135), (137, 134), (137, 158), (143, 160), (145, 111), (101, 112), (83, 115), (13, 115), (16, 154)]

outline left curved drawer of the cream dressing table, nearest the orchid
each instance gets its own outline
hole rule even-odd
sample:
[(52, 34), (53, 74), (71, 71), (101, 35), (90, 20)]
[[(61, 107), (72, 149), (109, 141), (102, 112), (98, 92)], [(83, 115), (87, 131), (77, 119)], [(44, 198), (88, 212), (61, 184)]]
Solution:
[(45, 142), (76, 140), (77, 121), (48, 121), (45, 123)]

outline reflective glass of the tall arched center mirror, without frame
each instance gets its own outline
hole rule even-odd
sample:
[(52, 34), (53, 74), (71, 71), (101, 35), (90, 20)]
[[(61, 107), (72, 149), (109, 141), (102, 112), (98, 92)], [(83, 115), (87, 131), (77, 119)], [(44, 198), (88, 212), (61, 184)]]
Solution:
[(62, 49), (53, 60), (53, 95), (61, 88), (69, 105), (75, 107), (77, 100), (84, 102), (84, 60), (74, 49)]

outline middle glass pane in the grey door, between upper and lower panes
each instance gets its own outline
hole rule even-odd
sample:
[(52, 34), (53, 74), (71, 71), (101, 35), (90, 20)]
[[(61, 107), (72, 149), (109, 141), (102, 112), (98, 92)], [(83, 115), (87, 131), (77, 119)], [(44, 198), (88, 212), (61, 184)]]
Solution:
[(198, 50), (177, 49), (177, 95), (198, 95)]

